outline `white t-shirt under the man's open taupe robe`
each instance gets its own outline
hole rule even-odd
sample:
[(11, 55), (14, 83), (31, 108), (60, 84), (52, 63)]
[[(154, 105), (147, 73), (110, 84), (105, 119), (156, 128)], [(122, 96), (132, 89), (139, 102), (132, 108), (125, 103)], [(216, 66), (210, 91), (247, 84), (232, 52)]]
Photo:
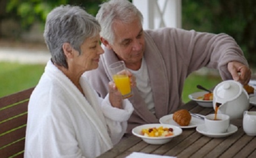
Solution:
[[(128, 69), (128, 70), (130, 70), (130, 69)], [(137, 71), (130, 70), (130, 71), (136, 77), (137, 88), (140, 92), (140, 95), (145, 100), (149, 111), (152, 113), (155, 113), (152, 88), (150, 85), (148, 68), (147, 68), (145, 59), (144, 58), (142, 59), (141, 67), (139, 70), (137, 70)]]

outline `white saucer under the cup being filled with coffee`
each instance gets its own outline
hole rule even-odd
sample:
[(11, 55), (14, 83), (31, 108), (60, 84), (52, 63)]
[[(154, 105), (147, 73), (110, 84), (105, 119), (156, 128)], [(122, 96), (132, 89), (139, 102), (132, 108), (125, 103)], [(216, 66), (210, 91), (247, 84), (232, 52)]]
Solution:
[(215, 134), (215, 133), (208, 133), (205, 125), (200, 125), (200, 126), (197, 126), (196, 131), (198, 131), (198, 133), (201, 133), (208, 137), (220, 138), (220, 137), (227, 137), (227, 136), (235, 133), (237, 131), (237, 129), (238, 129), (237, 126), (234, 126), (231, 124), (228, 127), (228, 131), (226, 133)]

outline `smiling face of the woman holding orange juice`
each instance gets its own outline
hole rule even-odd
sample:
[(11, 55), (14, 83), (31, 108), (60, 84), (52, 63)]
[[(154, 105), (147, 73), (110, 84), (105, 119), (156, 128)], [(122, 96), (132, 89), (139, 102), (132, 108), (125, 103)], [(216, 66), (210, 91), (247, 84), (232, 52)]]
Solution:
[(76, 71), (89, 71), (99, 66), (99, 56), (104, 51), (99, 44), (99, 35), (87, 38), (81, 45), (81, 54), (78, 51), (74, 55), (73, 66)]

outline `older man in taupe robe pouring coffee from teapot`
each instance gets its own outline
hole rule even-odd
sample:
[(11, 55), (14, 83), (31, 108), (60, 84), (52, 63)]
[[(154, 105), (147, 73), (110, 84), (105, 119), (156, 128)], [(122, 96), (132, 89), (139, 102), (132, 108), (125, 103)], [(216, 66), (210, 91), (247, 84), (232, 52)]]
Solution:
[(140, 124), (157, 123), (163, 115), (182, 106), (184, 80), (201, 67), (218, 69), (223, 80), (234, 79), (242, 84), (250, 80), (241, 48), (226, 34), (176, 28), (143, 30), (142, 14), (128, 0), (103, 3), (96, 19), (102, 26), (105, 54), (101, 55), (99, 68), (85, 76), (104, 97), (111, 80), (111, 63), (123, 60), (135, 75), (137, 87), (129, 98), (135, 111), (127, 132)]

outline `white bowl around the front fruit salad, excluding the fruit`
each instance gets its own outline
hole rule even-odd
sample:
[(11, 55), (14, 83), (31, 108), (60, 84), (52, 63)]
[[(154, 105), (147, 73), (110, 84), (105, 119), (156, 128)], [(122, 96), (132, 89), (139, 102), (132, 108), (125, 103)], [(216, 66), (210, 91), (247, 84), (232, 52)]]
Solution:
[[(173, 135), (172, 136), (167, 136), (167, 137), (147, 137), (141, 134), (142, 129), (148, 129), (148, 128), (158, 128), (160, 126), (163, 126), (164, 128), (172, 128), (173, 129)], [(160, 145), (160, 144), (165, 144), (171, 141), (173, 137), (179, 136), (182, 134), (182, 129), (173, 126), (173, 125), (168, 125), (168, 124), (160, 124), (160, 123), (152, 123), (152, 124), (144, 124), (137, 126), (132, 129), (132, 134), (140, 137), (143, 141), (149, 144), (154, 144), (154, 145)]]

